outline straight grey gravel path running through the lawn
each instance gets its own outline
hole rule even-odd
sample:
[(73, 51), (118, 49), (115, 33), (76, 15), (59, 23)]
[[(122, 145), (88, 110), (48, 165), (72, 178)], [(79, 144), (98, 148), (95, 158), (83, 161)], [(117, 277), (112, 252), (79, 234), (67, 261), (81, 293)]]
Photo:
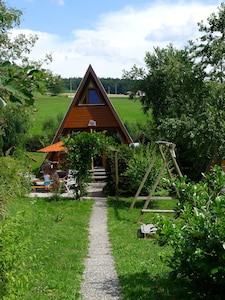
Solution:
[(114, 268), (107, 230), (107, 201), (94, 197), (89, 229), (89, 254), (81, 286), (83, 300), (119, 300), (119, 280)]

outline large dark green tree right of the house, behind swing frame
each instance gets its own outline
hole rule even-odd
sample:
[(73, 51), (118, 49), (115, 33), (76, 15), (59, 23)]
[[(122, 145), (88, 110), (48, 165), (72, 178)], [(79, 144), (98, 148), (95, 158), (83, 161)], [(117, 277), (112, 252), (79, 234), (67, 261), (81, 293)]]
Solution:
[(224, 155), (224, 11), (222, 4), (208, 26), (199, 23), (204, 34), (183, 50), (169, 45), (148, 52), (147, 72), (139, 82), (143, 109), (153, 110), (155, 139), (177, 144), (181, 169), (195, 180)]

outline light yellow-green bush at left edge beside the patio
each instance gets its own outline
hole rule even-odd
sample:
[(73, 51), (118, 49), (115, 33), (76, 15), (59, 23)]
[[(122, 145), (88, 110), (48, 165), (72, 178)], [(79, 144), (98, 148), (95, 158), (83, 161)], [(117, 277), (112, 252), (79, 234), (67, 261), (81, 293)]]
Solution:
[(4, 215), (6, 203), (24, 195), (30, 188), (27, 169), (18, 158), (0, 157), (0, 215)]

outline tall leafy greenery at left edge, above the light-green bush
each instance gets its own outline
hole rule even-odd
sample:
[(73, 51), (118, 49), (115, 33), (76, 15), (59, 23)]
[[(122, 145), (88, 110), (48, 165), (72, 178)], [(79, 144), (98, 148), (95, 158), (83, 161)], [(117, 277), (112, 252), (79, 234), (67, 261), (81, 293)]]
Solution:
[(28, 130), (29, 115), (37, 93), (45, 91), (50, 72), (42, 68), (50, 62), (46, 56), (42, 61), (30, 61), (29, 53), (37, 41), (36, 35), (14, 36), (12, 29), (20, 25), (22, 11), (8, 7), (0, 1), (0, 153), (22, 144)]

